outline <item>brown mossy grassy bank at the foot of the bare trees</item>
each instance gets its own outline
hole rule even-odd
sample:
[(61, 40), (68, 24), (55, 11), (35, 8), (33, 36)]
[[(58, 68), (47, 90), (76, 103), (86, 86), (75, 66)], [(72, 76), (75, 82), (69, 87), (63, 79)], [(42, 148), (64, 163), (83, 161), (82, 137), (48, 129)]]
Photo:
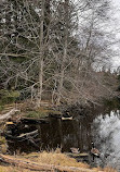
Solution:
[(45, 118), (49, 114), (62, 114), (62, 112), (56, 110), (56, 108), (53, 107), (50, 102), (42, 101), (42, 106), (37, 108), (29, 100), (23, 101), (21, 103), (9, 103), (0, 106), (0, 114), (5, 114), (13, 108), (17, 108), (18, 110), (21, 110), (21, 116), (25, 118), (40, 119)]

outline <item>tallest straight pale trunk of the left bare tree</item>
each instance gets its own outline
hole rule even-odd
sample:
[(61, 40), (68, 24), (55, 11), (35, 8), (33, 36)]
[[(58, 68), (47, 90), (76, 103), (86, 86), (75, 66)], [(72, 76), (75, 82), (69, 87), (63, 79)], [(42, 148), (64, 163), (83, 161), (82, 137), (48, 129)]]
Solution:
[(39, 101), (38, 107), (40, 107), (42, 100), (43, 91), (43, 66), (44, 66), (44, 47), (48, 38), (48, 29), (50, 24), (50, 1), (41, 1), (41, 26), (40, 26), (40, 61), (39, 61)]

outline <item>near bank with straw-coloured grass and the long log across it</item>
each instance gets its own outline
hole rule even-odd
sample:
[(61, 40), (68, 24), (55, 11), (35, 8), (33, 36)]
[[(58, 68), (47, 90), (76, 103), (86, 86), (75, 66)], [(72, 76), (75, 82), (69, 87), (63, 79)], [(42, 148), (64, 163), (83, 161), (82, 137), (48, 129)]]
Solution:
[[(17, 152), (18, 153), (18, 152)], [(59, 149), (51, 152), (32, 152), (29, 155), (3, 156), (8, 161), (8, 167), (0, 165), (0, 172), (30, 172), (32, 171), (52, 171), (56, 169), (66, 172), (117, 172), (112, 168), (91, 168), (86, 163), (77, 162), (76, 159), (61, 153)], [(4, 163), (3, 163), (4, 164)], [(14, 165), (12, 165), (14, 164)]]

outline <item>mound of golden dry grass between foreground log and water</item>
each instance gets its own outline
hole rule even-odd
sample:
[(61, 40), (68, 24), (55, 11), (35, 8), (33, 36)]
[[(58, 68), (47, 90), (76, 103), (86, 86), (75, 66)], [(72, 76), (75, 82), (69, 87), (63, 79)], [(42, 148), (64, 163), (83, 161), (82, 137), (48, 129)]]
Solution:
[[(67, 155), (61, 153), (61, 151), (57, 149), (56, 151), (46, 152), (43, 151), (41, 153), (29, 153), (27, 156), (24, 156), (25, 158), (38, 162), (38, 163), (48, 163), (48, 164), (54, 164), (54, 165), (63, 165), (63, 167), (77, 167), (77, 168), (83, 168), (83, 169), (91, 169), (91, 167), (86, 163), (77, 162), (76, 159), (69, 158)], [(117, 170), (112, 168), (94, 168), (93, 171), (104, 171), (104, 172), (117, 172)]]

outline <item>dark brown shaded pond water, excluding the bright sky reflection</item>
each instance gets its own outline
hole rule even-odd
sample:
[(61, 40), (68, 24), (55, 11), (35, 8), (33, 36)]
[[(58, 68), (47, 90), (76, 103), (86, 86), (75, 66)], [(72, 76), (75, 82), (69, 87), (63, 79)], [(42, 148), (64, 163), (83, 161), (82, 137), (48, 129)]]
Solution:
[[(40, 149), (55, 149), (62, 148), (62, 151), (70, 151), (71, 147), (79, 148), (81, 152), (90, 151), (92, 133), (91, 125), (93, 116), (75, 118), (70, 121), (63, 121), (61, 119), (50, 118), (48, 124), (34, 125), (34, 130), (39, 131), (38, 146)], [(23, 131), (22, 131), (23, 132)], [(21, 131), (19, 131), (21, 134)], [(26, 143), (25, 143), (26, 142)], [(14, 145), (14, 146), (13, 146)], [(13, 152), (13, 149), (21, 149), (21, 151), (36, 151), (36, 148), (24, 140), (24, 143), (9, 142), (9, 149)]]

